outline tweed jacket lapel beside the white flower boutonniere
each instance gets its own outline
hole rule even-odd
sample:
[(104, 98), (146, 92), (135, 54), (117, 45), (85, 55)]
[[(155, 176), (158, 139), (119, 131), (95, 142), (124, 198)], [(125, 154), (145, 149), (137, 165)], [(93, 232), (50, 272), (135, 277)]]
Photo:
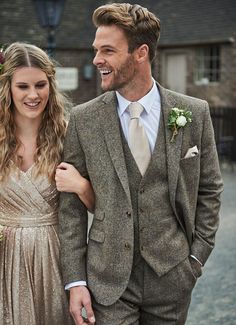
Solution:
[[(161, 95), (161, 106), (164, 118), (164, 129), (165, 129), (165, 141), (166, 141), (166, 154), (167, 154), (167, 172), (168, 172), (168, 183), (169, 183), (169, 193), (170, 202), (172, 208), (176, 213), (175, 208), (175, 195), (177, 188), (177, 180), (179, 174), (179, 161), (181, 158), (181, 147), (183, 132), (182, 129), (179, 130), (178, 135), (175, 137), (173, 142), (171, 139), (171, 130), (168, 128), (168, 116), (173, 107), (176, 105), (176, 101), (168, 90), (162, 88), (158, 85), (160, 95)], [(177, 213), (176, 213), (177, 215)]]

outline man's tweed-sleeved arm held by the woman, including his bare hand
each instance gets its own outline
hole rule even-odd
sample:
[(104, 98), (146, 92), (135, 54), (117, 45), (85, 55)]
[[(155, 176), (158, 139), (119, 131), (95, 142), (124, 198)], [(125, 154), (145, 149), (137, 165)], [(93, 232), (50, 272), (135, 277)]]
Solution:
[[(87, 177), (85, 157), (76, 128), (76, 117), (72, 112), (64, 143), (64, 161), (74, 165), (82, 176)], [(60, 194), (59, 237), (61, 242), (61, 264), (64, 283), (86, 281), (86, 251), (88, 213), (85, 205), (74, 193)], [(86, 309), (91, 324), (94, 314), (87, 287), (76, 286), (70, 289), (70, 312), (77, 325), (86, 324), (82, 317)]]

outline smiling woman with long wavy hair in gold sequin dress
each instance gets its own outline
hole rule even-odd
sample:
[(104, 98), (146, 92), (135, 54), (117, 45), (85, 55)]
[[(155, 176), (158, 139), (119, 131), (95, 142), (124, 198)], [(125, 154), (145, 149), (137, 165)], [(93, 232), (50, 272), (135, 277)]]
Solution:
[[(0, 324), (72, 324), (59, 269), (54, 177), (66, 131), (55, 66), (36, 46), (13, 43), (0, 71)], [(92, 209), (90, 183), (72, 190)], [(70, 186), (67, 187), (70, 191)], [(69, 253), (69, 252), (68, 252)]]

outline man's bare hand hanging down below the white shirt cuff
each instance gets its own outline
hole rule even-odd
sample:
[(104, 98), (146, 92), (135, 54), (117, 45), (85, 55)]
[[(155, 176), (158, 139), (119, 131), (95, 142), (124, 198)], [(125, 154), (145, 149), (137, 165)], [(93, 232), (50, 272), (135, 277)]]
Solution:
[[(82, 308), (86, 310), (87, 319), (82, 316)], [(76, 325), (95, 324), (91, 297), (87, 287), (76, 286), (70, 289), (70, 313)]]

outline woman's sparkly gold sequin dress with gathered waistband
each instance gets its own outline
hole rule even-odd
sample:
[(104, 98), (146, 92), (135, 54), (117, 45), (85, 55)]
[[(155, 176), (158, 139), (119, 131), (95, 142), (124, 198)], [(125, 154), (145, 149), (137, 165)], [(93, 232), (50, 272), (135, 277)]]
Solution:
[(72, 324), (59, 269), (58, 193), (32, 169), (0, 183), (0, 324)]

